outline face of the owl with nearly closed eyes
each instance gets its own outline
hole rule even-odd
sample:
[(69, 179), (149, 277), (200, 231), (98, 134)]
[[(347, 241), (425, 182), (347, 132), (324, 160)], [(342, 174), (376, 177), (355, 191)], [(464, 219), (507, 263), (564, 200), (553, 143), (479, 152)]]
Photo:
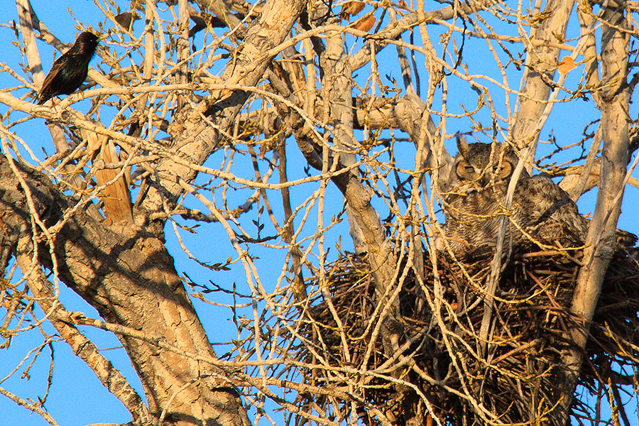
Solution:
[(489, 143), (467, 143), (457, 138), (457, 155), (453, 164), (455, 192), (469, 194), (481, 192), (493, 185), (501, 185), (510, 180), (517, 158), (513, 154), (502, 153), (502, 145)]

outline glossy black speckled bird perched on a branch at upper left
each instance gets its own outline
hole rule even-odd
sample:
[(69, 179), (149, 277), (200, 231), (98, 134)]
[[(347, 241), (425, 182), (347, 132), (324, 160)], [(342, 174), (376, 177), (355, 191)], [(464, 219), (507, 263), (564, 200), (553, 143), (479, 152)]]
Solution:
[(99, 37), (89, 31), (77, 36), (67, 53), (60, 56), (45, 77), (38, 92), (38, 105), (42, 105), (58, 94), (72, 94), (87, 79), (89, 61), (95, 53)]

